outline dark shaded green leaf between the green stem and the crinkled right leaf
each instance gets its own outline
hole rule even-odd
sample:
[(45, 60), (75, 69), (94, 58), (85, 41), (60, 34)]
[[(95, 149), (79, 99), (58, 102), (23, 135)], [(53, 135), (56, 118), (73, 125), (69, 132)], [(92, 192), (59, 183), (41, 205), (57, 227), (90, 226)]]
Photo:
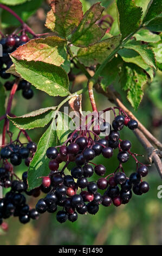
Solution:
[(101, 80), (101, 87), (106, 92), (106, 88), (112, 84), (117, 78), (119, 78), (118, 73), (120, 66), (122, 65), (122, 59), (120, 56), (117, 58), (114, 57), (110, 62), (107, 63), (105, 68), (102, 70), (100, 76), (102, 77)]

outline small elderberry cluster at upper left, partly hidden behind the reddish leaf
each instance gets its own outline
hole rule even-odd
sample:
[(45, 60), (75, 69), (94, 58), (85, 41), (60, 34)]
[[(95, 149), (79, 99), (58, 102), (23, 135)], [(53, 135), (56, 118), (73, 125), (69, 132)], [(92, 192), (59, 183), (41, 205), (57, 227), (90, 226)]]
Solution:
[[(26, 34), (23, 35), (8, 35), (0, 40), (0, 44), (3, 47), (3, 56), (0, 57), (0, 76), (7, 80), (10, 78), (10, 74), (6, 72), (7, 69), (13, 64), (9, 56), (10, 53), (14, 52), (17, 47), (25, 44), (29, 41), (29, 37)], [(6, 90), (11, 90), (15, 80), (7, 81), (4, 84)], [(31, 84), (25, 80), (22, 80), (17, 87), (17, 90), (22, 90), (22, 95), (25, 99), (31, 99), (34, 93), (30, 88)]]

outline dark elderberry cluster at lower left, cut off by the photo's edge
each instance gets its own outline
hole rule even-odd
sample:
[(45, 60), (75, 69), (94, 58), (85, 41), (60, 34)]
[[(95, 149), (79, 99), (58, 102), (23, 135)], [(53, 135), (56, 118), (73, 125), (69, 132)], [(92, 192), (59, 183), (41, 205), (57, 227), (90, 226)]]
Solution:
[[(27, 192), (27, 172), (23, 173), (22, 180), (20, 180), (13, 170), (13, 166), (20, 165), (22, 159), (29, 166), (35, 151), (36, 144), (34, 142), (29, 142), (27, 147), (12, 142), (1, 150), (0, 185), (4, 188), (10, 188), (10, 191), (5, 194), (3, 199), (0, 199), (0, 225), (4, 223), (3, 219), (10, 216), (18, 216), (20, 222), (24, 224), (29, 222), (30, 218), (36, 220), (39, 216), (35, 209), (29, 208), (23, 194), (33, 195), (33, 193)], [(8, 162), (9, 159), (10, 162)], [(16, 179), (13, 180), (13, 178)]]

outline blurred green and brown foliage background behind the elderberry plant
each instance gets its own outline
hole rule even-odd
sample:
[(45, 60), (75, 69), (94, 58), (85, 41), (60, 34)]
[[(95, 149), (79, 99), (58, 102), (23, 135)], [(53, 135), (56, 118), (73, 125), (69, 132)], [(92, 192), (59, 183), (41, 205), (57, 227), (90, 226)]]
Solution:
[[(0, 1), (1, 2), (1, 1)], [(3, 1), (2, 1), (3, 2)], [(22, 0), (22, 2), (24, 2)], [(13, 8), (16, 13), (20, 14), (24, 21), (27, 21), (29, 26), (36, 33), (49, 32), (44, 27), (46, 14), (49, 10), (50, 1), (30, 0), (28, 2), (16, 5)], [(96, 1), (82, 0), (83, 10), (86, 11), (91, 4)], [(111, 34), (119, 33), (115, 3), (113, 0), (102, 0), (102, 5), (105, 6), (108, 14), (112, 15), (114, 19), (111, 28)], [(135, 0), (136, 4), (141, 6), (145, 12), (149, 0)], [(18, 26), (14, 17), (11, 17), (6, 11), (1, 10), (1, 29), (4, 33), (11, 33), (15, 26)], [(73, 72), (78, 74), (77, 69)], [(122, 101), (125, 103), (135, 116), (144, 124), (151, 133), (162, 141), (162, 73), (157, 72), (151, 84), (147, 84), (145, 88), (145, 96), (142, 100), (138, 111), (133, 111), (126, 99), (126, 94), (121, 91), (118, 81), (113, 86), (120, 93)], [(1, 82), (4, 82), (1, 79)], [(71, 84), (72, 86), (72, 84)], [(78, 74), (75, 79), (75, 86), (73, 92), (86, 86), (85, 76)], [(21, 92), (17, 92), (12, 113), (22, 115), (35, 109), (49, 106), (56, 106), (62, 101), (61, 98), (51, 97), (34, 88), (34, 97), (31, 100), (25, 100)], [(95, 93), (96, 103), (99, 110), (112, 106), (102, 95)], [(90, 102), (88, 95), (83, 95), (84, 111), (90, 111)], [(1, 122), (2, 125), (2, 122)], [(11, 131), (14, 132), (16, 138), (18, 130), (11, 125)], [(38, 142), (43, 129), (36, 129), (29, 131), (30, 137), (33, 141)], [(1, 136), (1, 135), (0, 135)], [(132, 152), (143, 154), (144, 157), (139, 157), (139, 161), (147, 162), (145, 150), (142, 148), (137, 138), (132, 131), (124, 129), (121, 131), (122, 139), (129, 139), (132, 142)], [(24, 137), (21, 138), (22, 141)], [(25, 141), (24, 141), (25, 142)], [(116, 167), (117, 162), (115, 157), (110, 160), (105, 160), (102, 156), (97, 157), (95, 163), (102, 163), (107, 168), (107, 173), (112, 173)], [(124, 165), (127, 176), (135, 171), (135, 162), (130, 159)], [(21, 164), (17, 167), (17, 174), (22, 173), (27, 169), (25, 165)], [(43, 214), (38, 221), (31, 221), (25, 225), (18, 222), (17, 218), (11, 217), (7, 220), (9, 223), (9, 230), (7, 232), (0, 228), (0, 245), (161, 245), (162, 244), (162, 198), (157, 197), (157, 187), (161, 185), (161, 180), (155, 169), (154, 164), (149, 168), (150, 173), (146, 178), (150, 184), (150, 191), (142, 196), (135, 196), (126, 205), (121, 205), (116, 208), (111, 205), (109, 208), (100, 206), (99, 212), (93, 216), (87, 214), (86, 216), (79, 216), (74, 223), (66, 222), (60, 224), (56, 221), (55, 214)], [(95, 180), (95, 175), (93, 180)], [(6, 191), (4, 191), (5, 193)], [(44, 194), (41, 195), (44, 197)], [(30, 206), (34, 207), (38, 198), (30, 199)]]

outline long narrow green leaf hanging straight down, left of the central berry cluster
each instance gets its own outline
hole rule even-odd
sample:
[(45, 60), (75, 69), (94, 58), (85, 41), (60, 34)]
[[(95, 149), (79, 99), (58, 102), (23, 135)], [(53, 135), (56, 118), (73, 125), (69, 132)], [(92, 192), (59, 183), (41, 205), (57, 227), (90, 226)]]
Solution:
[(49, 147), (57, 145), (57, 133), (55, 119), (44, 132), (37, 145), (37, 151), (30, 163), (28, 173), (28, 190), (32, 190), (42, 184), (41, 176), (47, 176), (50, 172), (48, 167), (49, 159), (46, 156), (46, 151)]

